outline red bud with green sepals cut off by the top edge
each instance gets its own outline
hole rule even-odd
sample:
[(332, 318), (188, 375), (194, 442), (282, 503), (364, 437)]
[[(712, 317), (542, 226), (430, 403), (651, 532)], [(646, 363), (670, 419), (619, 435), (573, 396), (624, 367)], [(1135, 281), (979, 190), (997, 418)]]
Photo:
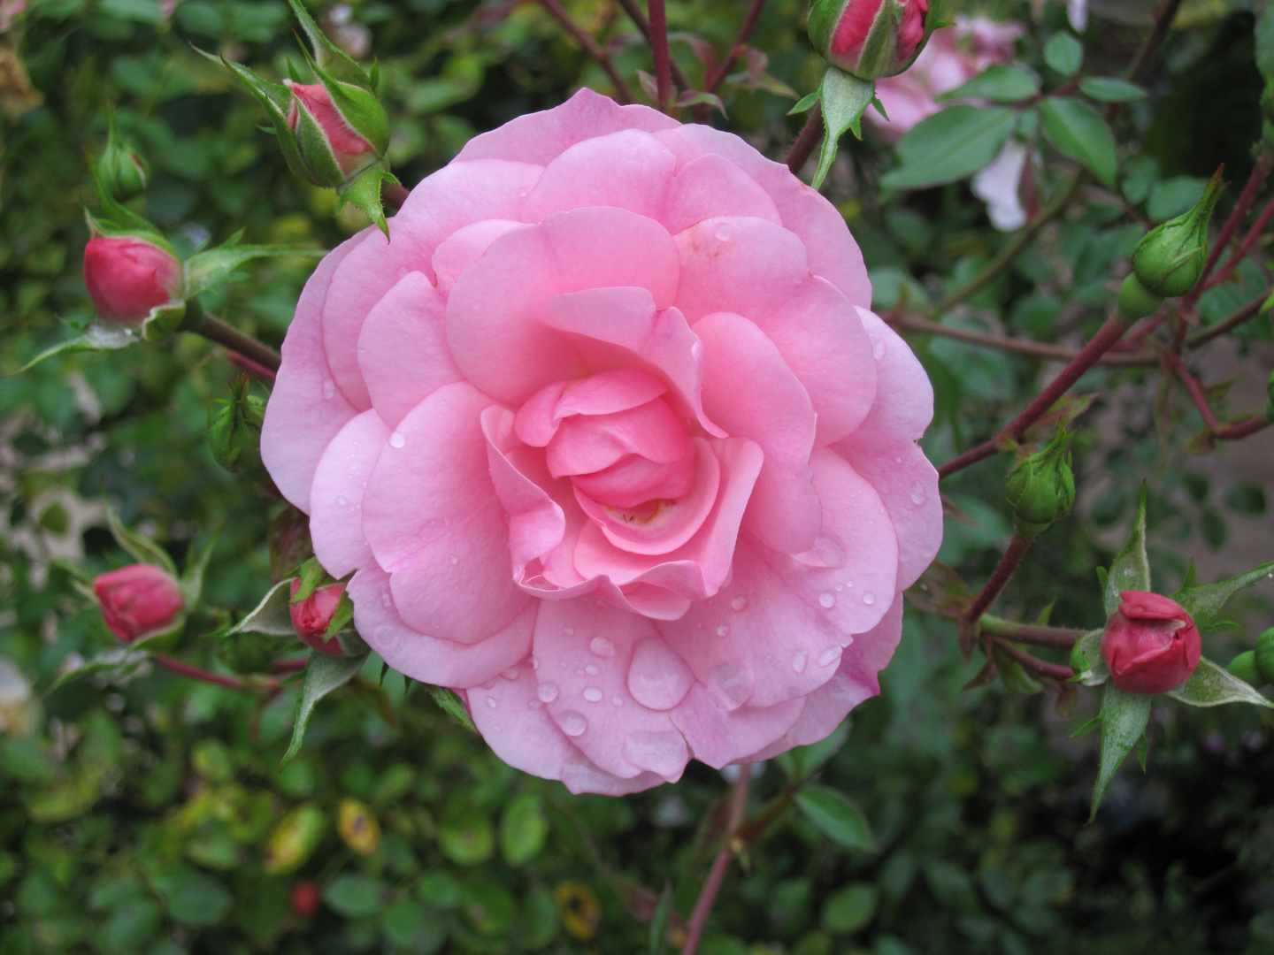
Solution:
[(929, 0), (814, 0), (809, 38), (832, 66), (875, 80), (916, 59), (927, 14)]

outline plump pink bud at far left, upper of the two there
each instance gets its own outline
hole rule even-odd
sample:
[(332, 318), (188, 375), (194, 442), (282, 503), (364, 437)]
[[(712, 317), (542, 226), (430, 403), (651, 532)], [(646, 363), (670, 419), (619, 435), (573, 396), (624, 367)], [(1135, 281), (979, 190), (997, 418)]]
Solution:
[(138, 325), (181, 292), (181, 262), (132, 236), (94, 236), (84, 250), (84, 284), (97, 313), (112, 325)]

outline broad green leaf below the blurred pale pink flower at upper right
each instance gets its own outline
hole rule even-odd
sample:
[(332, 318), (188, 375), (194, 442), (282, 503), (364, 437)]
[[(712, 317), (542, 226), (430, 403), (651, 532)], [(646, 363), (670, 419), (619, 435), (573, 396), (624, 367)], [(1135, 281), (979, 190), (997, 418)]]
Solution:
[(917, 122), (898, 143), (902, 164), (888, 173), (885, 188), (921, 188), (954, 182), (990, 166), (1013, 132), (1013, 110), (948, 106)]

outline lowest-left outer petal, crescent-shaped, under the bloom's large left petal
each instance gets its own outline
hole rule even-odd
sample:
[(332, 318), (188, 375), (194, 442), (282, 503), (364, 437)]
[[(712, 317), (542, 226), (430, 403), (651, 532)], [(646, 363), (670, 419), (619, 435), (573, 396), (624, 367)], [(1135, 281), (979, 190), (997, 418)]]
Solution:
[(390, 596), (390, 577), (380, 568), (363, 568), (349, 582), (354, 626), (391, 667), (434, 686), (475, 686), (526, 656), (535, 624), (529, 604), (507, 626), (478, 643), (428, 637), (403, 623)]

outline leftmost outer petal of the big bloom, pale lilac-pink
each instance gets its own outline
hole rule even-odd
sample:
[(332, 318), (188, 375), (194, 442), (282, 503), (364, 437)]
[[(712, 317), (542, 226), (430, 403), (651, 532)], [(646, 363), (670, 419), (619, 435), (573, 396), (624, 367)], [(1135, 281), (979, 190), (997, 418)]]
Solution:
[(261, 460), (283, 497), (306, 513), (310, 513), (310, 485), (324, 448), (358, 414), (338, 392), (327, 368), (318, 316), (336, 266), (369, 230), (375, 228), (368, 227), (329, 252), (306, 283), (283, 340), (279, 378), (265, 407)]

